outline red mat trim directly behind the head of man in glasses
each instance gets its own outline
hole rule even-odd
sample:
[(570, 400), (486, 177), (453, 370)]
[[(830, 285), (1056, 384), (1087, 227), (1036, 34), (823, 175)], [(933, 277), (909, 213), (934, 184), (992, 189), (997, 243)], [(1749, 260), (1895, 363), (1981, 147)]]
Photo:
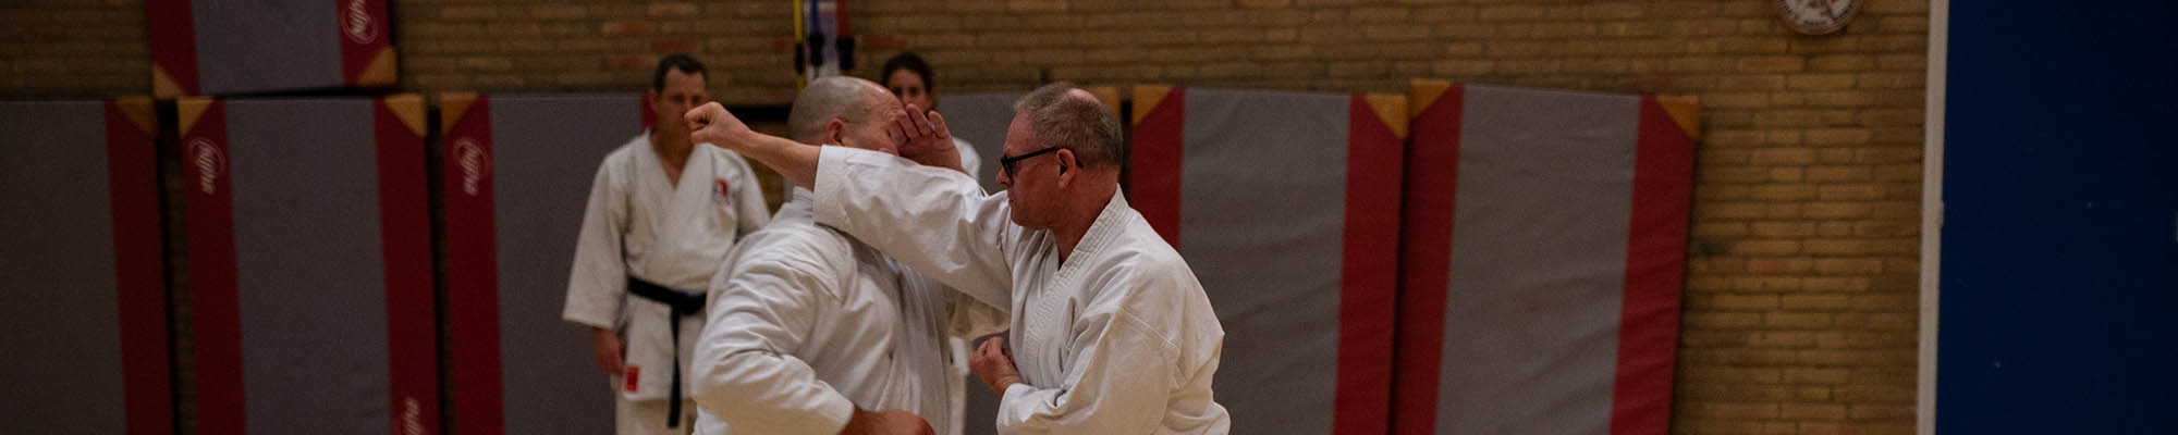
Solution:
[(1128, 159), (1130, 181), (1126, 202), (1180, 248), (1180, 157), (1185, 154), (1187, 89), (1174, 87), (1165, 100), (1135, 122), (1135, 150)]

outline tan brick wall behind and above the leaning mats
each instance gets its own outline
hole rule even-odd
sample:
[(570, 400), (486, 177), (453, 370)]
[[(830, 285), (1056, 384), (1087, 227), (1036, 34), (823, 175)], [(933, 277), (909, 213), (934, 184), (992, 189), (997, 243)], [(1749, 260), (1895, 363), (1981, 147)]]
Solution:
[[(686, 50), (741, 104), (793, 98), (788, 2), (396, 0), (416, 91), (632, 91)], [(142, 4), (0, 9), (9, 94), (144, 94)], [(860, 74), (941, 91), (1407, 78), (1699, 96), (1675, 433), (1910, 433), (1925, 0), (1799, 37), (1769, 0), (860, 0)]]

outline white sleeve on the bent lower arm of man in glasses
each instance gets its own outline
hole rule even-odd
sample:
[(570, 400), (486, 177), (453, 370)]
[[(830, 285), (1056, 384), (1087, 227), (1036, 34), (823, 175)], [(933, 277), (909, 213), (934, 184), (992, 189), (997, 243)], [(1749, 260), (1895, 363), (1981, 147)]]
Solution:
[(1015, 383), (998, 402), (998, 433), (1150, 433), (1165, 418), (1176, 346), (1130, 311), (1085, 311), (1063, 385)]

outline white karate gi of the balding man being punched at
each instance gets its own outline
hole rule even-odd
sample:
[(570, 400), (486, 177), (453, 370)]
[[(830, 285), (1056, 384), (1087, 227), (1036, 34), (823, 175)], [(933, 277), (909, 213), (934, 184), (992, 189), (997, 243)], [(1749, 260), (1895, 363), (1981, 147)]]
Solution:
[(741, 241), (710, 302), (693, 391), (734, 433), (832, 435), (856, 407), (910, 411), (945, 433), (945, 337), (1006, 326), (1004, 311), (812, 222), (808, 189)]

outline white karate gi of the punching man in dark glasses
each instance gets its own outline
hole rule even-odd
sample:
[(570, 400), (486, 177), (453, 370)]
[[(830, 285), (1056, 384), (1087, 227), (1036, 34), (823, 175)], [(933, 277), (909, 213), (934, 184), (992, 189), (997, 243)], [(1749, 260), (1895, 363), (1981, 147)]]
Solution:
[(1008, 220), (1006, 194), (906, 159), (828, 146), (817, 222), (967, 294), (1011, 289), (1021, 381), (998, 433), (1226, 433), (1211, 398), (1224, 328), (1194, 272), (1113, 196), (1061, 265), (1050, 231)]

